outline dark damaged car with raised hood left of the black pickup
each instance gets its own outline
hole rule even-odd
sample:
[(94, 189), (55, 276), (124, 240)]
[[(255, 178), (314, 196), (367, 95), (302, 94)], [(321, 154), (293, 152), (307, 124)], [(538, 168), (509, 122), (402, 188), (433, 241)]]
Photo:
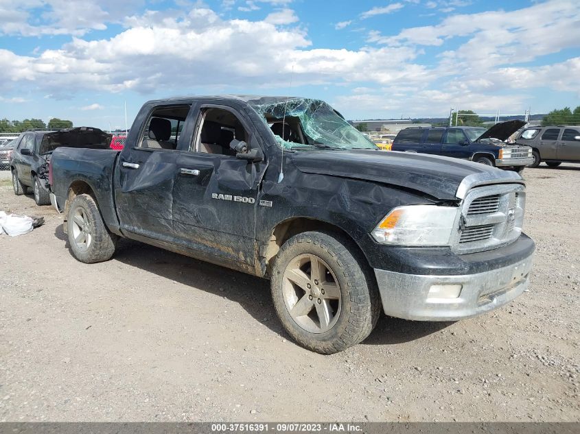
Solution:
[(16, 139), (10, 156), (14, 194), (34, 191), (37, 205), (50, 204), (48, 161), (54, 149), (62, 146), (106, 149), (111, 145), (111, 134), (98, 128), (78, 127), (60, 131), (27, 131)]

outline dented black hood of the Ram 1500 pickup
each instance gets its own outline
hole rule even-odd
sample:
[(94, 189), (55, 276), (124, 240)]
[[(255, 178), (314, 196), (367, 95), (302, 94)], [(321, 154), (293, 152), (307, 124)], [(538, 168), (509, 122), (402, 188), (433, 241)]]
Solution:
[(487, 173), (487, 178), (511, 178), (511, 173), (477, 162), (411, 152), (299, 151), (292, 154), (292, 161), (303, 173), (402, 186), (439, 200), (457, 200), (459, 184), (469, 175)]

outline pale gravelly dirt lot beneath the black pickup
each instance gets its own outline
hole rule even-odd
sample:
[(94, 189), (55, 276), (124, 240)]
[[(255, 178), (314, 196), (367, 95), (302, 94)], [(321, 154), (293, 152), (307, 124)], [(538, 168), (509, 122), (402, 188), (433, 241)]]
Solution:
[(303, 350), (268, 282), (123, 241), (77, 262), (60, 217), (0, 181), (0, 420), (580, 420), (580, 165), (526, 169), (529, 292), (473, 320), (382, 317), (362, 344)]

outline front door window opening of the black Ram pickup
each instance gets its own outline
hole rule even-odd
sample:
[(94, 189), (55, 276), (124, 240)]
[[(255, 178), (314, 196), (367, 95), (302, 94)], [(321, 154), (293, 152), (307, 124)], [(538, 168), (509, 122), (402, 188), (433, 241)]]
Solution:
[(233, 140), (248, 143), (248, 132), (238, 117), (225, 108), (205, 108), (200, 116), (200, 126), (192, 152), (235, 156), (230, 148)]

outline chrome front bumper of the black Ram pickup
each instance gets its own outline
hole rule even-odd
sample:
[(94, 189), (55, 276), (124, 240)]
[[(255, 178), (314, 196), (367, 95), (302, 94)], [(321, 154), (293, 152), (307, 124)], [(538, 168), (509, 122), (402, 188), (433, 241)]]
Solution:
[[(417, 321), (454, 321), (492, 311), (528, 287), (533, 254), (488, 272), (463, 276), (402, 274), (375, 269), (384, 313)], [(457, 298), (437, 298), (433, 285), (461, 285)]]

